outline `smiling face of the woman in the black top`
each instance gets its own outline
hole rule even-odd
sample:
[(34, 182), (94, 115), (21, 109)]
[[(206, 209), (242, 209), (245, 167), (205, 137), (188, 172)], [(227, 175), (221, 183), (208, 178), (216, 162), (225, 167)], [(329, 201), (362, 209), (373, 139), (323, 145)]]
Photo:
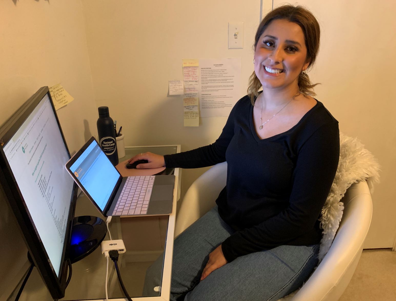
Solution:
[(307, 69), (303, 30), (296, 23), (274, 20), (264, 30), (254, 53), (254, 70), (263, 88), (286, 88)]

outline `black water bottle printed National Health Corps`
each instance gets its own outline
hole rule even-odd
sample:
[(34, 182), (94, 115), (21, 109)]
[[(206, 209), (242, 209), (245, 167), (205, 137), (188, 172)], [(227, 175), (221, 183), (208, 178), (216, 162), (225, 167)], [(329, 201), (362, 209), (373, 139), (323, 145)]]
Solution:
[(118, 153), (114, 122), (109, 116), (109, 107), (99, 107), (98, 111), (99, 118), (96, 126), (98, 128), (99, 145), (110, 162), (116, 166), (118, 164)]

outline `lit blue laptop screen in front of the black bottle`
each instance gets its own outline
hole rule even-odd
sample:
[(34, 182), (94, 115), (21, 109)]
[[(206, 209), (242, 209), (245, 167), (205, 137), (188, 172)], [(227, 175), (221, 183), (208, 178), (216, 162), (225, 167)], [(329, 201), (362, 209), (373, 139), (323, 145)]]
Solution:
[(70, 166), (70, 171), (103, 211), (120, 174), (95, 140)]

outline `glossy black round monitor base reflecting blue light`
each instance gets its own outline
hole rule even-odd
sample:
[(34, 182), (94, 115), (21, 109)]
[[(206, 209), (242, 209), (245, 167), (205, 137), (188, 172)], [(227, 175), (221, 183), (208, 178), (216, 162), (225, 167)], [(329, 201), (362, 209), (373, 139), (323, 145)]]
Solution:
[(107, 227), (103, 219), (83, 215), (73, 219), (70, 239), (70, 261), (75, 263), (91, 254), (107, 234)]

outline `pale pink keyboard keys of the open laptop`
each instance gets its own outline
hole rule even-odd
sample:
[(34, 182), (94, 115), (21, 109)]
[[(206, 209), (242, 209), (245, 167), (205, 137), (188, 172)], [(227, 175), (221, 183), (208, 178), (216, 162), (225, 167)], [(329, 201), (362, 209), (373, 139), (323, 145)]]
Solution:
[(113, 215), (147, 214), (154, 175), (128, 177)]

